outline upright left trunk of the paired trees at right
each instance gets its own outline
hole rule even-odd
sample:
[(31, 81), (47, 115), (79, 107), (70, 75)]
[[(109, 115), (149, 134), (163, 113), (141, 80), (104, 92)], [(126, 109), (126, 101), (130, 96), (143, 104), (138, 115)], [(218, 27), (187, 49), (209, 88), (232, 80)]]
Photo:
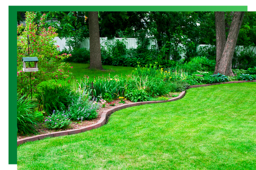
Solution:
[[(225, 34), (225, 14), (224, 12), (214, 12), (215, 14), (215, 29), (216, 29), (216, 65), (215, 71), (221, 61), (221, 55), (226, 44)], [(214, 72), (214, 74), (216, 74)]]

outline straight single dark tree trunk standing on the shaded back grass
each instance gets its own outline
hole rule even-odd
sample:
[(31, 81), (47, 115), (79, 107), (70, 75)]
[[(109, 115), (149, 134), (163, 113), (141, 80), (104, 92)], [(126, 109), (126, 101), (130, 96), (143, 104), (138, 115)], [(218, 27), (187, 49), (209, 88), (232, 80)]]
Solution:
[(90, 36), (90, 67), (89, 69), (103, 70), (99, 40), (98, 12), (88, 12)]

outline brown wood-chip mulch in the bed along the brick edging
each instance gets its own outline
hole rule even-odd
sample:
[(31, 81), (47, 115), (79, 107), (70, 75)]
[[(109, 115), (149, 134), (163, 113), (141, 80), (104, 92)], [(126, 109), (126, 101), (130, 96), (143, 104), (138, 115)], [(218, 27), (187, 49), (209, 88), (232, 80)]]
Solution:
[[(166, 95), (166, 97), (171, 99), (172, 94), (180, 94), (180, 93), (170, 93), (170, 94)], [(101, 115), (102, 115), (103, 111), (106, 111), (108, 109), (111, 109), (111, 108), (119, 106), (119, 105), (124, 105), (123, 103), (119, 103), (120, 99), (115, 99), (111, 103), (113, 103), (113, 102), (115, 103), (115, 106), (110, 106), (109, 104), (106, 103), (105, 108), (100, 107), (97, 110), (97, 113), (98, 113), (97, 119), (83, 120), (82, 122), (81, 121), (72, 121), (72, 123), (66, 129), (52, 130), (52, 129), (48, 129), (47, 127), (45, 127), (44, 123), (40, 123), (40, 124), (38, 124), (38, 127), (35, 128), (38, 131), (38, 134), (36, 134), (36, 135), (59, 132), (59, 131), (64, 131), (64, 130), (79, 129), (79, 128), (82, 128), (82, 127), (86, 127), (86, 126), (89, 126), (89, 125), (96, 124), (99, 121), (99, 119), (101, 118)], [(129, 100), (125, 100), (125, 104), (130, 104), (130, 103), (134, 103), (134, 102), (131, 102)], [(17, 140), (18, 139), (23, 139), (23, 138), (26, 138), (26, 137), (36, 136), (36, 135), (31, 134), (31, 135), (26, 135), (26, 136), (17, 136)]]

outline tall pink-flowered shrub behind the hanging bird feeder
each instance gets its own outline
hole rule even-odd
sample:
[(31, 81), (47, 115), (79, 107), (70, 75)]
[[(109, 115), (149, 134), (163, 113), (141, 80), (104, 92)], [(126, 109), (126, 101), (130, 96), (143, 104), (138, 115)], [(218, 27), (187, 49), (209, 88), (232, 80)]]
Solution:
[[(46, 15), (43, 14), (39, 24), (36, 20), (36, 13), (32, 11), (26, 12), (26, 26), (23, 24), (17, 26), (17, 91), (22, 95), (30, 92), (30, 76), (24, 73), (23, 57), (38, 57), (38, 71), (31, 73), (33, 89), (36, 90), (40, 82), (49, 79), (65, 79), (69, 77), (69, 64), (64, 62), (57, 64), (56, 61), (61, 61), (71, 54), (58, 55), (58, 45), (54, 45), (54, 37), (58, 34), (54, 27), (44, 28)], [(24, 29), (24, 31), (22, 31)], [(28, 37), (29, 36), (29, 50)], [(34, 63), (30, 63), (33, 67)]]

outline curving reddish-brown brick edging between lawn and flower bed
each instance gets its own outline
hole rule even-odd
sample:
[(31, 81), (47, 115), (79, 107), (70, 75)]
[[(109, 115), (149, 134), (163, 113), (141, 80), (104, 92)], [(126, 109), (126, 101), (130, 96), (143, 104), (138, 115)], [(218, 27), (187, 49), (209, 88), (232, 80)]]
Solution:
[[(256, 82), (256, 80), (253, 80), (253, 81), (233, 81), (233, 82), (206, 84), (206, 85), (192, 85), (192, 86), (189, 86), (187, 89), (189, 89), (189, 88), (204, 87), (204, 86), (210, 86), (210, 85), (242, 83), (242, 82)], [(99, 119), (99, 121), (96, 124), (93, 124), (93, 125), (90, 125), (90, 126), (87, 126), (87, 127), (82, 127), (80, 129), (65, 130), (65, 131), (61, 131), (61, 132), (53, 132), (53, 133), (47, 133), (47, 134), (42, 134), (42, 135), (37, 135), (37, 136), (32, 136), (32, 137), (27, 137), (27, 138), (19, 139), (19, 140), (17, 140), (17, 146), (19, 144), (22, 144), (22, 143), (25, 143), (25, 142), (41, 140), (41, 139), (44, 139), (46, 137), (57, 137), (57, 136), (72, 135), (72, 134), (76, 134), (76, 133), (85, 132), (87, 130), (96, 129), (98, 127), (101, 127), (101, 126), (105, 125), (107, 116), (109, 114), (113, 113), (113, 112), (119, 111), (119, 110), (124, 109), (124, 108), (130, 108), (130, 107), (133, 107), (133, 106), (146, 105), (146, 104), (152, 104), (152, 103), (165, 103), (165, 102), (176, 101), (178, 99), (181, 99), (185, 95), (185, 93), (186, 93), (186, 91), (182, 91), (179, 96), (174, 97), (174, 98), (169, 99), (169, 100), (165, 100), (165, 101), (135, 102), (135, 103), (131, 103), (131, 104), (124, 104), (124, 105), (116, 106), (116, 107), (113, 107), (113, 108), (108, 109), (106, 111), (103, 111), (103, 113), (101, 115), (101, 118)]]

